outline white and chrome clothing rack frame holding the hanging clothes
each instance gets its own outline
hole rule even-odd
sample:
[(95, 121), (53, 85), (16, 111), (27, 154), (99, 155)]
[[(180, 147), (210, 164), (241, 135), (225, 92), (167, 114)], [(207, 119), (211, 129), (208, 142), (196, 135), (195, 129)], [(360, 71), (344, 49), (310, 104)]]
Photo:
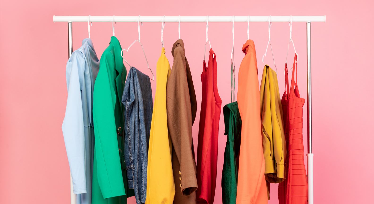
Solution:
[[(292, 21), (291, 21), (292, 20)], [(68, 23), (68, 57), (73, 53), (73, 22), (306, 22), (307, 39), (307, 180), (308, 203), (313, 204), (312, 153), (312, 48), (311, 22), (326, 22), (326, 16), (53, 16), (53, 22)], [(76, 204), (70, 177), (71, 204)]]

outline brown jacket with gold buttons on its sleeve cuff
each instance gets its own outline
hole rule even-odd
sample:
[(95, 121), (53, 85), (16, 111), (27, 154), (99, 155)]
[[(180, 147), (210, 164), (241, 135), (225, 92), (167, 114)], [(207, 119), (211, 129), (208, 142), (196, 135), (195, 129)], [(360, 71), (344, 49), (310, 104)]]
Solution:
[(196, 204), (197, 171), (192, 141), (196, 95), (190, 67), (184, 55), (183, 40), (174, 43), (171, 53), (174, 63), (166, 87), (166, 110), (173, 143), (174, 204)]

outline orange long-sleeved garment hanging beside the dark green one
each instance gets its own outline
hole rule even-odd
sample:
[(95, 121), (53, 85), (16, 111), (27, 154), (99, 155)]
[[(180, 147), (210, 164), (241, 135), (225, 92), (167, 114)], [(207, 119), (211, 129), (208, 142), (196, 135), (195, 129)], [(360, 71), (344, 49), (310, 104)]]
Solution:
[(242, 118), (237, 204), (267, 203), (265, 159), (262, 150), (260, 86), (258, 85), (255, 45), (247, 40), (239, 68), (237, 104)]

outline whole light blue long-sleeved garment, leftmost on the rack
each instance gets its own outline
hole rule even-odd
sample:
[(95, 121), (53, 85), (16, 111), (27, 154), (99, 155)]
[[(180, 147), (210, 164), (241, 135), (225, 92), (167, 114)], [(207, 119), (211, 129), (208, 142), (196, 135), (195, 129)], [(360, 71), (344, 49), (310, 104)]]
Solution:
[(66, 153), (77, 204), (91, 204), (93, 149), (95, 136), (92, 119), (93, 85), (100, 61), (91, 39), (73, 52), (66, 64), (68, 98), (62, 122)]

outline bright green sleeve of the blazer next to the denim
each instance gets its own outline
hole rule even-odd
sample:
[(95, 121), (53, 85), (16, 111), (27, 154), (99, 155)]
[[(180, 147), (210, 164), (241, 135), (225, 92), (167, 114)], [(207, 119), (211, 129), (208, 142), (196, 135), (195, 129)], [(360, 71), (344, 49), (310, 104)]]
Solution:
[(93, 122), (95, 126), (95, 158), (97, 180), (102, 197), (125, 195), (117, 143), (115, 61), (110, 45), (102, 54), (100, 70), (93, 91)]

